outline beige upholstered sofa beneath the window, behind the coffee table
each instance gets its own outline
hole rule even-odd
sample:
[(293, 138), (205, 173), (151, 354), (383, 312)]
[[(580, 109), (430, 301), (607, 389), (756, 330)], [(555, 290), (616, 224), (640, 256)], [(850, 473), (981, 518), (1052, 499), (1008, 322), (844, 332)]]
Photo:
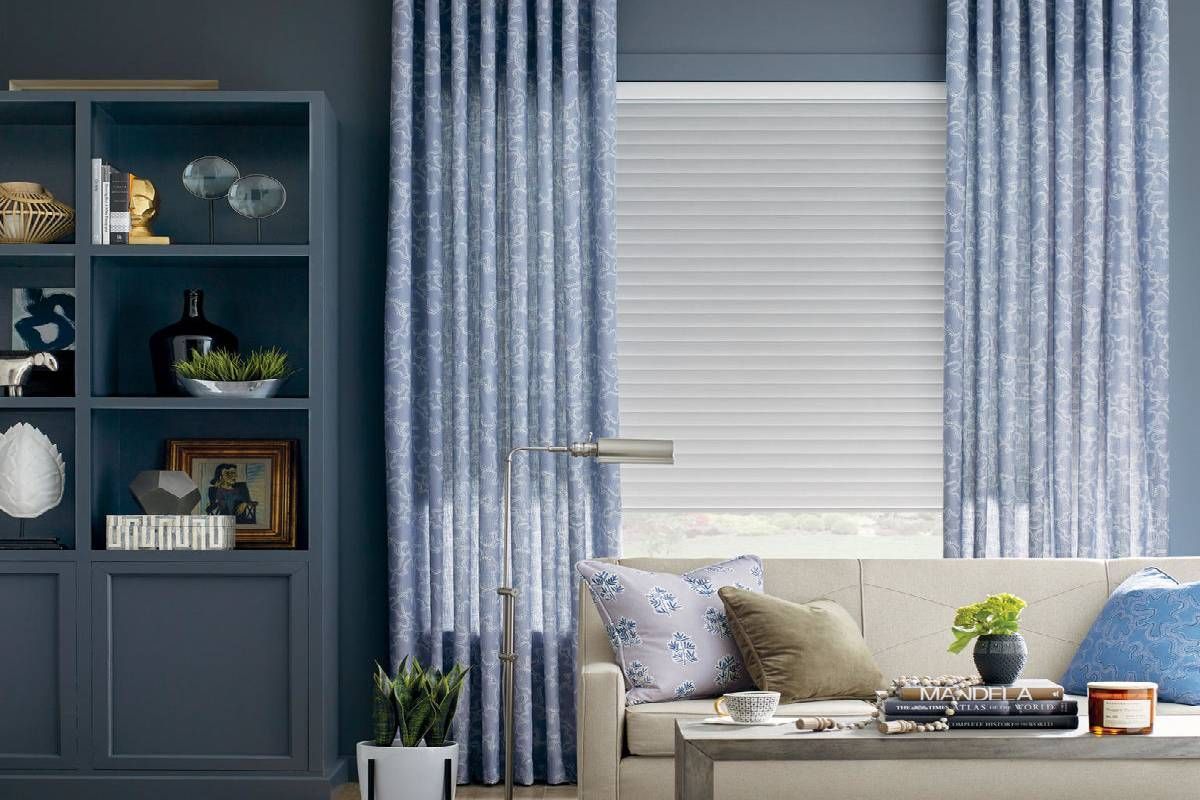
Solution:
[[(686, 572), (720, 560), (623, 559), (620, 564), (656, 572)], [(974, 602), (984, 595), (1010, 591), (1024, 597), (1028, 608), (1022, 616), (1021, 632), (1028, 642), (1027, 676), (1057, 680), (1074, 655), (1079, 642), (1087, 633), (1104, 601), (1117, 584), (1132, 572), (1148, 565), (1160, 566), (1180, 581), (1200, 579), (1200, 558), (1180, 559), (1121, 559), (1098, 560), (842, 560), (842, 559), (774, 559), (763, 563), (766, 591), (785, 600), (808, 602), (829, 599), (845, 607), (859, 621), (863, 636), (875, 654), (884, 676), (901, 674), (964, 674), (973, 672), (970, 654), (955, 656), (947, 652), (950, 642), (949, 625), (954, 609)], [(604, 624), (580, 585), (580, 648), (578, 648), (578, 782), (581, 800), (667, 800), (674, 796), (673, 732), (677, 718), (701, 718), (712, 715), (712, 700), (679, 700), (673, 703), (625, 706), (625, 686), (620, 669), (613, 660), (612, 648)], [(781, 708), (787, 715), (865, 716), (870, 710), (859, 700), (830, 700)], [(1159, 704), (1159, 714), (1200, 714), (1200, 706)], [(1200, 753), (1198, 753), (1200, 757)], [(955, 782), (978, 775), (995, 775), (1006, 769), (1008, 778), (1037, 776), (1042, 796), (1056, 796), (1045, 781), (1061, 780), (1066, 784), (1087, 786), (1097, 780), (1104, 783), (1097, 762), (1027, 763), (1020, 769), (1007, 762), (986, 765), (956, 763)], [(1193, 762), (1164, 764), (1159, 775), (1187, 766), (1187, 781), (1194, 790), (1200, 777)], [(761, 766), (761, 764), (760, 764)], [(785, 769), (788, 765), (779, 765)], [(800, 787), (804, 794), (816, 796), (859, 796), (863, 781), (884, 781), (887, 796), (920, 796), (924, 789), (901, 790), (895, 783), (895, 764), (856, 762), (856, 769), (839, 764), (806, 763), (803, 782), (787, 781), (792, 790)], [(1114, 765), (1115, 766), (1115, 765)], [(766, 778), (768, 770), (758, 770)], [(936, 778), (942, 768), (926, 775)], [(913, 774), (911, 770), (908, 775)], [(871, 776), (875, 776), (874, 778)], [(1177, 778), (1178, 776), (1176, 776)], [(784, 776), (787, 780), (787, 776)], [(1175, 796), (1145, 794), (1152, 787), (1146, 777), (1138, 778), (1140, 796)], [(1006, 783), (1007, 796), (1034, 796), (1016, 792), (1014, 783)], [(1174, 783), (1172, 786), (1180, 786)], [(1032, 789), (1031, 789), (1032, 790)], [(746, 787), (748, 796), (762, 796)], [(785, 792), (782, 796), (791, 793)], [(798, 796), (798, 795), (797, 795)], [(884, 796), (884, 795), (880, 795)], [(925, 795), (930, 796), (930, 795)], [(990, 795), (989, 795), (990, 796)], [(1080, 795), (1082, 796), (1082, 795)], [(1108, 795), (1093, 795), (1108, 796)]]

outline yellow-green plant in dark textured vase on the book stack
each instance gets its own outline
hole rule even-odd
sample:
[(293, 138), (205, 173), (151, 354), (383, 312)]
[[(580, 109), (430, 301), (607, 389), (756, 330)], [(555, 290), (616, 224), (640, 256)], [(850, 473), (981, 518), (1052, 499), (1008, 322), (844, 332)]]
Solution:
[(983, 602), (959, 608), (950, 628), (950, 652), (962, 652), (976, 639), (973, 655), (983, 682), (1015, 682), (1028, 657), (1025, 637), (1018, 632), (1024, 609), (1025, 601), (1009, 594), (990, 595)]

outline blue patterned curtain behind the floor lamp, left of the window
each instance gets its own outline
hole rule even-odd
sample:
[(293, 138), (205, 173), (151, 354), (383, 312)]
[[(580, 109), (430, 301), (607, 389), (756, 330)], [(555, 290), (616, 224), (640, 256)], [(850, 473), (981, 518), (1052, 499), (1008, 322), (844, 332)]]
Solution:
[[(385, 297), (391, 657), (472, 666), (462, 778), (503, 774), (503, 461), (617, 433), (616, 0), (396, 0)], [(516, 780), (575, 775), (574, 564), (618, 548), (592, 459), (515, 475)]]

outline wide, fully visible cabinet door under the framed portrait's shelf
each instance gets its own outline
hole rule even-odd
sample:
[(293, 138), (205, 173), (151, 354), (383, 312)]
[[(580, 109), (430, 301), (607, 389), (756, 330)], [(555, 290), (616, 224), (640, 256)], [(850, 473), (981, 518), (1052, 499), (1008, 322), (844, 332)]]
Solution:
[(307, 768), (307, 567), (94, 565), (94, 766)]

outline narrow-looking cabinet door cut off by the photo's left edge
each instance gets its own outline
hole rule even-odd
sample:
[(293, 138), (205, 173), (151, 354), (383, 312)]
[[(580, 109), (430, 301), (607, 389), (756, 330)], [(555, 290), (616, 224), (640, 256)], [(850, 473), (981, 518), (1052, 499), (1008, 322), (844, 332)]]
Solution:
[(0, 564), (0, 769), (74, 764), (74, 575)]

